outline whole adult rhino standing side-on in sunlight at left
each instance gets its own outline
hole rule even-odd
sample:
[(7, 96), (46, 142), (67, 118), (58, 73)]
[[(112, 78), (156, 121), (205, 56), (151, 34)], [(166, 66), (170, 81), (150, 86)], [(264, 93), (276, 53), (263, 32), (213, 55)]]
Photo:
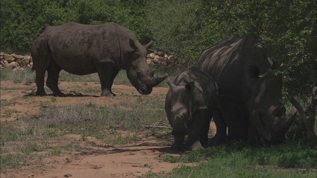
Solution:
[(165, 78), (155, 78), (155, 70), (146, 63), (147, 48), (127, 28), (115, 23), (84, 25), (74, 22), (47, 27), (32, 45), (32, 70), (36, 71), (36, 95), (46, 95), (46, 85), (53, 95), (63, 95), (57, 83), (63, 69), (75, 75), (98, 73), (101, 96), (115, 96), (113, 80), (120, 69), (126, 70), (131, 84), (141, 94), (150, 94)]

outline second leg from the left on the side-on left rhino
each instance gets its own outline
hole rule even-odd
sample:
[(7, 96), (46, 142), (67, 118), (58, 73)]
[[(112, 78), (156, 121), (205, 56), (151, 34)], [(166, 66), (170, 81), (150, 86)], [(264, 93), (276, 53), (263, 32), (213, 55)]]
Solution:
[(53, 91), (53, 96), (63, 96), (62, 93), (58, 88), (58, 78), (59, 72), (61, 68), (56, 64), (54, 60), (51, 60), (50, 66), (48, 68), (48, 79), (46, 81), (46, 86)]

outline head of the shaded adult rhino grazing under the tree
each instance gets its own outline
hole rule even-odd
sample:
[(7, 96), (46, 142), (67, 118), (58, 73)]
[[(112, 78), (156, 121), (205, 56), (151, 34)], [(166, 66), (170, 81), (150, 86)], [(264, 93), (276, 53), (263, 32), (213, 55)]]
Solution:
[[(255, 52), (251, 56), (260, 58), (263, 56), (265, 60), (249, 61), (248, 64), (246, 75), (252, 93), (249, 100), (250, 121), (262, 139), (256, 140), (257, 142), (280, 143), (286, 138), (285, 133), (294, 121), (296, 113), (290, 118), (285, 116), (286, 109), (283, 106), (281, 94), (282, 75), (273, 72), (280, 68), (280, 64), (271, 61), (267, 55), (257, 55), (261, 54), (257, 50)], [(259, 61), (266, 61), (266, 64), (261, 64)]]

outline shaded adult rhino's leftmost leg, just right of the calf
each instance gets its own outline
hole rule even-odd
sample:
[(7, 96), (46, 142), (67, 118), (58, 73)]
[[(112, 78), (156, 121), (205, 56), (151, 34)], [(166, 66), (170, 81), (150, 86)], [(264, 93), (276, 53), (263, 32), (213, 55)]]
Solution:
[(216, 125), (216, 134), (211, 139), (213, 145), (223, 143), (227, 137), (227, 125), (224, 122), (220, 109), (217, 109), (213, 115), (213, 122)]

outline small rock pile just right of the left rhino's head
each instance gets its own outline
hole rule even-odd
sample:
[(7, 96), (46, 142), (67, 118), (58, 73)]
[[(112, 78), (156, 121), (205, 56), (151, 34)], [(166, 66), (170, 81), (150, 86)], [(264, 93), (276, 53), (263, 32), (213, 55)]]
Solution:
[(167, 55), (162, 52), (153, 52), (147, 56), (147, 64), (150, 66), (170, 66), (173, 61), (173, 55)]

